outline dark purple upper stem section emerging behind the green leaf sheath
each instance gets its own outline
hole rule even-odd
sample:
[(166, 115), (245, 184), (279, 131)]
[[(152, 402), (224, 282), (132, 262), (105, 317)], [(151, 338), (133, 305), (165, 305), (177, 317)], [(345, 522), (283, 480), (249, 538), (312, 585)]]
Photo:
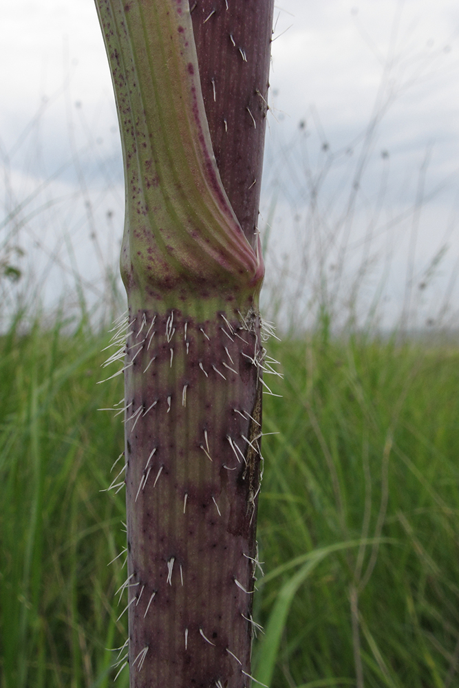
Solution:
[(255, 246), (274, 0), (193, 0), (191, 6), (215, 159), (236, 217)]

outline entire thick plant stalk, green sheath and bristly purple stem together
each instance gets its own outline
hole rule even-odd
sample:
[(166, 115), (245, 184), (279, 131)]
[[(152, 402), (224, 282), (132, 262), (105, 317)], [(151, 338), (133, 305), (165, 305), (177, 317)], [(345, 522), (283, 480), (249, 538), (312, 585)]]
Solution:
[[(192, 6), (193, 33), (187, 0), (96, 0), (126, 182), (131, 688), (242, 688), (250, 681), (264, 353), (255, 204), (273, 3), (262, 10), (256, 0), (228, 0), (228, 10), (226, 0), (220, 4)], [(239, 43), (257, 17), (258, 52)], [(213, 67), (203, 27), (222, 43), (231, 21), (229, 77), (226, 62), (216, 61), (215, 107), (206, 115), (201, 80), (209, 96)], [(248, 71), (252, 58), (250, 81), (241, 68)], [(226, 77), (219, 109), (217, 85)], [(222, 122), (231, 103), (238, 105)], [(257, 183), (247, 185), (254, 175)]]

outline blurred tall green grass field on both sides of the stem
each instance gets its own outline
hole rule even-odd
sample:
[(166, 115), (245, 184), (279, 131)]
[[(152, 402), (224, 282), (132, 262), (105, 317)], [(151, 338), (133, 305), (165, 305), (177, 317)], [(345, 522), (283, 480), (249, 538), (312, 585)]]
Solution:
[[(0, 338), (2, 688), (113, 685), (126, 618), (123, 396), (107, 336)], [(459, 347), (270, 341), (254, 672), (271, 688), (459, 685)], [(271, 385), (272, 383), (272, 385)], [(116, 685), (127, 687), (127, 669)], [(171, 687), (164, 687), (171, 688)]]

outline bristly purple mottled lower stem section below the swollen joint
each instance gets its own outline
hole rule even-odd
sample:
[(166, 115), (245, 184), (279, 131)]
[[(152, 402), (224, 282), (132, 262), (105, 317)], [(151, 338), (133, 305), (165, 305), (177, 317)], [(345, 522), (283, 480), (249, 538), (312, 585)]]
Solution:
[[(155, 334), (136, 356), (143, 314), (147, 325), (156, 316)], [(128, 362), (136, 356), (126, 374), (129, 599), (136, 599), (129, 608), (131, 685), (220, 681), (242, 688), (243, 671), (250, 674), (257, 558), (257, 318), (242, 326), (228, 312), (209, 321), (180, 310), (143, 311), (130, 329)], [(143, 373), (147, 366), (150, 375)], [(132, 663), (145, 647), (136, 671)]]

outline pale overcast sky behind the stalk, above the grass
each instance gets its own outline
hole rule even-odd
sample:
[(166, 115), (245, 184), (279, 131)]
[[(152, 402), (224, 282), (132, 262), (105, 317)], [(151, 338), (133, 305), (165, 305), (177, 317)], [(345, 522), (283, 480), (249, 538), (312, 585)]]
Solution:
[[(271, 246), (277, 246), (277, 255), (288, 253), (296, 223), (295, 231), (301, 234), (296, 241), (309, 241), (309, 248), (301, 244), (301, 250), (312, 250), (317, 258), (308, 208), (311, 184), (321, 173), (325, 177), (322, 221), (336, 227), (341, 217), (337, 235), (349, 230), (348, 243), (341, 239), (330, 243), (325, 259), (330, 270), (348, 239), (357, 245), (367, 234), (368, 218), (378, 215), (374, 208), (383, 186), (386, 218), (409, 207), (414, 210), (416, 193), (419, 200), (422, 192), (416, 237), (412, 213), (403, 230), (398, 226), (399, 233), (392, 237), (395, 244), (391, 239), (390, 250), (393, 254), (396, 246), (398, 253), (392, 256), (395, 277), (387, 299), (400, 300), (407, 279), (423, 279), (429, 261), (445, 245), (442, 286), (431, 292), (423, 317), (429, 308), (438, 308), (439, 294), (447, 288), (459, 255), (459, 227), (454, 226), (459, 190), (458, 30), (459, 6), (453, 0), (279, 0), (275, 8), (272, 115), (261, 217), (262, 226), (268, 220), (273, 226)], [(58, 179), (48, 185), (54, 197), (68, 196), (76, 186), (81, 191), (83, 184), (87, 198), (94, 202), (92, 217), (86, 211), (81, 215), (81, 197), (74, 198), (72, 213), (69, 204), (62, 211), (61, 223), (70, 237), (77, 237), (82, 227), (87, 237), (85, 222), (104, 233), (110, 224), (104, 215), (107, 209), (119, 234), (118, 131), (93, 1), (3, 3), (0, 63), (1, 153), (11, 187), (6, 208), (21, 202), (34, 184), (63, 166)], [(362, 195), (351, 209), (352, 228), (346, 228), (342, 217), (349, 211), (348, 182), (356, 174)], [(48, 195), (47, 201), (52, 200)], [(271, 215), (270, 206), (274, 207)], [(381, 217), (380, 213), (374, 222), (381, 224)], [(44, 229), (42, 238), (45, 241)], [(110, 237), (107, 246), (109, 241)], [(76, 243), (85, 254), (81, 241)], [(374, 246), (376, 253), (381, 252), (377, 237)], [(410, 250), (415, 254), (411, 267)], [(87, 248), (85, 255), (92, 255), (92, 249)], [(355, 270), (359, 260), (353, 264), (350, 259)], [(292, 263), (291, 268), (295, 273), (299, 266)]]

